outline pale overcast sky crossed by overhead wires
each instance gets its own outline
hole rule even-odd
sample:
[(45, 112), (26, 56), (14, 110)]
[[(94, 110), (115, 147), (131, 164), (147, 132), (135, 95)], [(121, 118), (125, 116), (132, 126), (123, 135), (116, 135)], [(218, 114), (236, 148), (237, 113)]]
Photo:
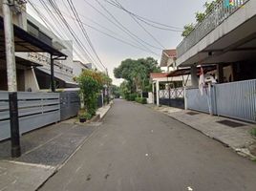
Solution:
[[(53, 28), (57, 31), (54, 32), (56, 35), (61, 35), (60, 37), (65, 40), (72, 39), (75, 41), (68, 32), (68, 29), (63, 27), (63, 24), (61, 24), (59, 20), (55, 19), (57, 17), (56, 11), (51, 10), (51, 13), (56, 16), (53, 17), (53, 15), (46, 11), (46, 7), (41, 4), (42, 1), (52, 9), (48, 0), (32, 0), (29, 1), (32, 4), (28, 3), (28, 12), (42, 22), (42, 24), (46, 25), (40, 20), (40, 17), (43, 15), (47, 18), (48, 26), (46, 27), (51, 29), (51, 27), (54, 26)], [(113, 83), (116, 85), (122, 80), (114, 77), (113, 70), (120, 65), (122, 60), (126, 58), (138, 59), (151, 56), (160, 62), (161, 50), (174, 49), (181, 43), (181, 32), (160, 30), (149, 26), (135, 19), (126, 11), (120, 10), (110, 4), (116, 0), (70, 1), (74, 4), (75, 11), (83, 24), (85, 32), (90, 38), (97, 56), (101, 63), (108, 69), (110, 76), (113, 78)], [(146, 19), (175, 27), (175, 29), (182, 29), (185, 24), (195, 22), (195, 12), (203, 11), (205, 1), (206, 0), (117, 0), (116, 2), (125, 10)], [(74, 59), (78, 59), (84, 63), (88, 63), (92, 61), (92, 59), (96, 60), (97, 68), (102, 71), (103, 67), (100, 62), (97, 61), (96, 54), (93, 50), (90, 50), (85, 35), (75, 22), (75, 16), (69, 7), (68, 1), (54, 0), (54, 2), (78, 36), (80, 42), (91, 54), (90, 57), (93, 57), (88, 59), (84, 51), (76, 51), (76, 53), (74, 53)], [(36, 8), (41, 15), (38, 16), (38, 13), (34, 11), (32, 6)], [(116, 25), (113, 23), (116, 23)], [(124, 29), (120, 30), (120, 28)], [(132, 34), (128, 35), (127, 32), (131, 32)], [(112, 37), (106, 35), (106, 33)], [(128, 44), (124, 44), (123, 41)]]

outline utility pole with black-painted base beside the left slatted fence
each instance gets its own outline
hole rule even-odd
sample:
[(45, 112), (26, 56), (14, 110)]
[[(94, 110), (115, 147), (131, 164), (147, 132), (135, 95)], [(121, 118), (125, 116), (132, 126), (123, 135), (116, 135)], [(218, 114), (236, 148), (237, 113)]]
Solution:
[(10, 126), (11, 126), (11, 157), (18, 158), (21, 155), (19, 139), (19, 119), (17, 101), (17, 79), (15, 64), (15, 48), (13, 38), (12, 12), (10, 5), (13, 0), (3, 0), (6, 62), (8, 76), (9, 106), (10, 106)]

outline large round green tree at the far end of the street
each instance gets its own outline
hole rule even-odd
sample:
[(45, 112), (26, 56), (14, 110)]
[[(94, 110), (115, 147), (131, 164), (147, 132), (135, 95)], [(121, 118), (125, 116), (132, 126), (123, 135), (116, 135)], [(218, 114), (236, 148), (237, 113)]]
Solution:
[(128, 58), (114, 69), (115, 77), (125, 79), (126, 88), (129, 88), (131, 93), (145, 91), (149, 85), (150, 73), (158, 72), (158, 61), (152, 57), (137, 60)]

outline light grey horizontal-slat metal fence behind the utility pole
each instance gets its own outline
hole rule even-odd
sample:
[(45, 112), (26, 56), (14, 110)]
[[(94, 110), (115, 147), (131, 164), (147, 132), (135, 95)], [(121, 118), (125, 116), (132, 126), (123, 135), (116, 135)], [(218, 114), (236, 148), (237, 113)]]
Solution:
[[(19, 92), (17, 98), (20, 134), (60, 120), (59, 94)], [(10, 137), (9, 93), (0, 92), (0, 140)]]

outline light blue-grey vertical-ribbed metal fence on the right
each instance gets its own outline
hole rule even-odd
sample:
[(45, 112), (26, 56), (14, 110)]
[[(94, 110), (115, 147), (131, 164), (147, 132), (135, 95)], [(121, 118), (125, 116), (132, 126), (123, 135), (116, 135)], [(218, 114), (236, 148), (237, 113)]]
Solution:
[[(209, 102), (209, 100), (211, 102)], [(187, 109), (214, 115), (256, 121), (256, 79), (216, 84), (211, 94), (201, 96), (199, 89), (186, 90)]]

